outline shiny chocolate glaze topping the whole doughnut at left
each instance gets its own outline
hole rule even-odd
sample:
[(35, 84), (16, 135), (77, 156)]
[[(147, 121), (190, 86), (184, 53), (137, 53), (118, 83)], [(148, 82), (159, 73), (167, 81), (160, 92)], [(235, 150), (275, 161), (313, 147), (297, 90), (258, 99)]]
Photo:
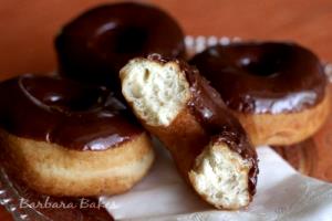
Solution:
[(143, 133), (104, 87), (22, 75), (0, 83), (0, 126), (10, 134), (75, 150), (105, 150)]

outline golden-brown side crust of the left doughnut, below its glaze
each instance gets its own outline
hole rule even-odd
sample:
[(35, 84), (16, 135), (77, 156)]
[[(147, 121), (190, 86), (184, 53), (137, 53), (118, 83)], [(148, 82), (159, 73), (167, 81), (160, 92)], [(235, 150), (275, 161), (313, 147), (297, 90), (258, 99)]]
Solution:
[(38, 192), (90, 197), (129, 190), (151, 168), (154, 151), (143, 133), (104, 151), (72, 150), (0, 130), (6, 166)]

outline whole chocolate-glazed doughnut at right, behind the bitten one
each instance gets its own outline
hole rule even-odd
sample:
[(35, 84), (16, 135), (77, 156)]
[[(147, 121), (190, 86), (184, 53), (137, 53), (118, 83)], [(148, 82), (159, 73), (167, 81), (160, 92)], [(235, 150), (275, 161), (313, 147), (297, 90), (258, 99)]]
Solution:
[(291, 145), (312, 136), (329, 114), (319, 59), (293, 43), (216, 45), (190, 64), (221, 95), (255, 145)]

